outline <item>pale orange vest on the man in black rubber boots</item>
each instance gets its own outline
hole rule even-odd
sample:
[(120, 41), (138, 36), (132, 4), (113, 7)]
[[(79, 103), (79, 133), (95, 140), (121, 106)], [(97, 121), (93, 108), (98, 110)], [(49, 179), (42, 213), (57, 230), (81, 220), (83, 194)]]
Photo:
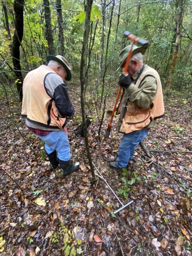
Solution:
[(44, 87), (44, 79), (49, 73), (56, 74), (51, 68), (42, 65), (26, 75), (23, 82), (22, 115), (44, 127), (62, 129), (67, 120), (59, 117), (55, 102)]

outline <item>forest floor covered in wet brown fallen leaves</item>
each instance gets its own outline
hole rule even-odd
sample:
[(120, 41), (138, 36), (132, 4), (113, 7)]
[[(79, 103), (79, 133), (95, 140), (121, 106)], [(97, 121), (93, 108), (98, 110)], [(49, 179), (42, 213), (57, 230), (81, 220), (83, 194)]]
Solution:
[[(0, 100), (0, 256), (192, 255), (192, 105), (180, 95), (165, 97), (166, 116), (145, 140), (151, 158), (137, 147), (126, 169), (112, 170), (121, 134), (104, 133), (98, 119), (89, 126), (98, 176), (90, 184), (84, 138), (76, 135), (80, 100), (68, 132), (72, 160), (80, 170), (63, 177), (45, 158), (42, 142), (25, 127), (20, 106)], [(115, 93), (114, 93), (115, 94)], [(113, 98), (113, 97), (112, 97)], [(111, 102), (112, 105), (113, 101)], [(190, 152), (187, 152), (190, 151)], [(98, 172), (95, 169), (95, 173)]]

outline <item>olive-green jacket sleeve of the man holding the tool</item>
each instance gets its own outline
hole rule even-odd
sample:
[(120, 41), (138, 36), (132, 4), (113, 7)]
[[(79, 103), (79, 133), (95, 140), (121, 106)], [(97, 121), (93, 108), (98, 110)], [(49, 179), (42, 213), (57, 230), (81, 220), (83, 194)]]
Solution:
[(139, 88), (132, 83), (126, 90), (130, 96), (130, 102), (134, 102), (142, 109), (147, 109), (156, 95), (157, 81), (153, 76), (146, 76)]

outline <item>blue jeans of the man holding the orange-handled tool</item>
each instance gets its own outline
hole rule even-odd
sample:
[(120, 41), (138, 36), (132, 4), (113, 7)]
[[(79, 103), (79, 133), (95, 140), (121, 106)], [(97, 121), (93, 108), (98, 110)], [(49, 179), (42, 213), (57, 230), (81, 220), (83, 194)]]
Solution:
[(119, 152), (117, 164), (120, 168), (128, 165), (130, 159), (133, 158), (135, 146), (137, 146), (144, 138), (146, 138), (149, 130), (139, 130), (123, 135), (119, 144)]

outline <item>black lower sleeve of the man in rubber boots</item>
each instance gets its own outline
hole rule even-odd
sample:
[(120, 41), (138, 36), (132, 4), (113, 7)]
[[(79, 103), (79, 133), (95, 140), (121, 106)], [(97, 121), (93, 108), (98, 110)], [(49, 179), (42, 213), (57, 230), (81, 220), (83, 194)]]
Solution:
[(59, 84), (55, 88), (53, 99), (55, 101), (56, 108), (62, 116), (74, 115), (75, 110), (70, 102), (68, 92), (64, 84)]

